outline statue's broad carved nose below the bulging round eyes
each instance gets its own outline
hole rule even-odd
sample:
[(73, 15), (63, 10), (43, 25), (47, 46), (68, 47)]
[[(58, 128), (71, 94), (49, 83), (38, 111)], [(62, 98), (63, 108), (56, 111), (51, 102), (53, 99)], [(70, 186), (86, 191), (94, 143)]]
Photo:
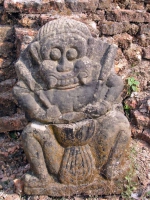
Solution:
[(70, 62), (66, 58), (63, 58), (59, 65), (57, 66), (57, 71), (58, 72), (68, 72), (73, 69), (73, 62)]

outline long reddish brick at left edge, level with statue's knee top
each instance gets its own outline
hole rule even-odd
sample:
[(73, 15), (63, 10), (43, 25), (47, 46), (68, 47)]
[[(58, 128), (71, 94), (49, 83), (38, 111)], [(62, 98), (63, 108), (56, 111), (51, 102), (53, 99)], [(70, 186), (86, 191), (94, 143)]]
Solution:
[(15, 114), (11, 117), (0, 117), (0, 133), (13, 130), (22, 130), (26, 124), (27, 121), (25, 116), (21, 114)]

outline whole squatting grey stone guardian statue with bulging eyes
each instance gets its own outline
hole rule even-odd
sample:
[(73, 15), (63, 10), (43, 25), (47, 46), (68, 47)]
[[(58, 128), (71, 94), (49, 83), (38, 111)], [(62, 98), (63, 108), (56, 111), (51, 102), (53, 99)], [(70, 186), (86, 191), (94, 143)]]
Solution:
[(25, 193), (99, 194), (125, 176), (130, 126), (121, 112), (115, 54), (115, 45), (67, 18), (44, 25), (21, 54), (13, 91), (30, 122), (22, 133), (33, 171)]

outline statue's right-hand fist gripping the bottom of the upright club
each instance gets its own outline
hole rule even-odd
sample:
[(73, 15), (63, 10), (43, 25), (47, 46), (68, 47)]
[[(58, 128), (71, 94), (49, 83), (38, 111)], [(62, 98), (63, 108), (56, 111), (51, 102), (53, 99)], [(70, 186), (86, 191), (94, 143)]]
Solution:
[(111, 104), (108, 101), (97, 102), (96, 104), (88, 104), (84, 112), (92, 118), (97, 118), (102, 115), (105, 115), (111, 108)]

